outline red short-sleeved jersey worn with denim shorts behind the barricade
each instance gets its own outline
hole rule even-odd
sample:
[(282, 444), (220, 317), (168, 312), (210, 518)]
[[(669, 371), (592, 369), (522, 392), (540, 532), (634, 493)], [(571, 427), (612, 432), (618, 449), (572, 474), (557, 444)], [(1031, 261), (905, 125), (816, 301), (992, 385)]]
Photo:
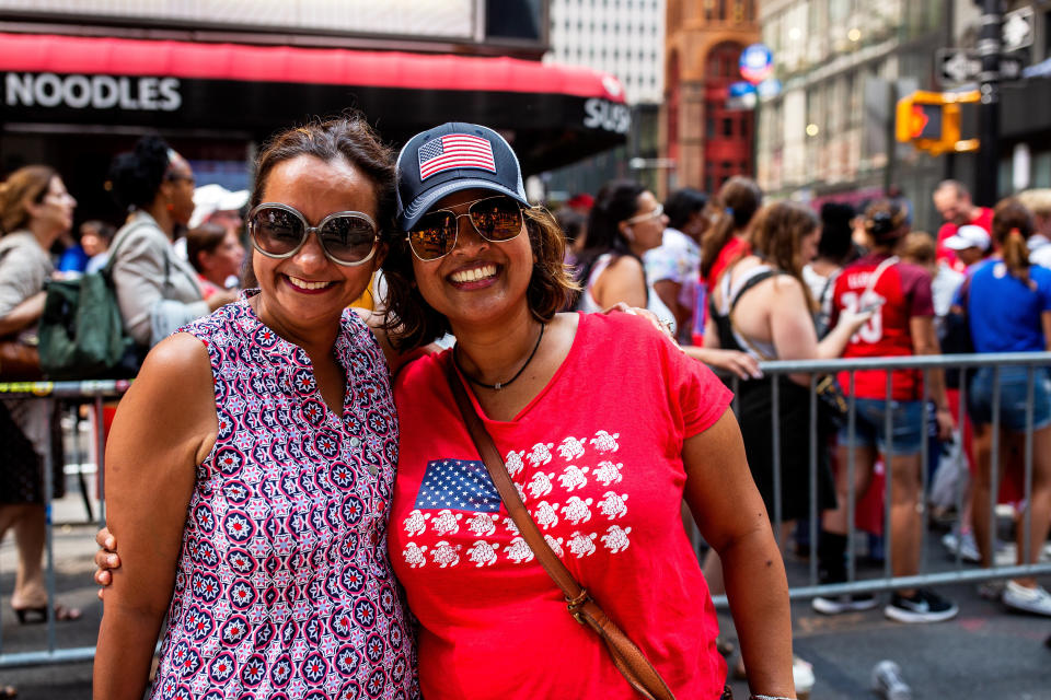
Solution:
[[(865, 290), (873, 272), (887, 255), (866, 255), (847, 266), (835, 280), (832, 296), (834, 326), (844, 308), (878, 303), (873, 317), (851, 337), (844, 358), (878, 358), (913, 354), (912, 331), (909, 322), (914, 316), (934, 316), (931, 296), (931, 276), (921, 267), (897, 262), (883, 269), (865, 300)], [(850, 390), (850, 374), (840, 374), (840, 386)], [(886, 398), (887, 373), (882, 370), (858, 370), (854, 373), (854, 394), (859, 398)], [(916, 370), (899, 370), (891, 376), (891, 398), (917, 400), (923, 398), (923, 377)]]

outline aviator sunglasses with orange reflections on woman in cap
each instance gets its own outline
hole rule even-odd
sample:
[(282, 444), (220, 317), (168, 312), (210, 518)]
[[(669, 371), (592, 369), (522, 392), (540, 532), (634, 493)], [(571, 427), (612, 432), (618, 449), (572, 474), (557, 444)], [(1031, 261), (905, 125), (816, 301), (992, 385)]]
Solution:
[(466, 217), (477, 234), (489, 243), (511, 241), (522, 232), (522, 205), (510, 197), (497, 195), (465, 205), (467, 210), (464, 213), (457, 213), (452, 209), (432, 209), (409, 229), (408, 246), (417, 258), (437, 260), (452, 253), (457, 247), (461, 217)]

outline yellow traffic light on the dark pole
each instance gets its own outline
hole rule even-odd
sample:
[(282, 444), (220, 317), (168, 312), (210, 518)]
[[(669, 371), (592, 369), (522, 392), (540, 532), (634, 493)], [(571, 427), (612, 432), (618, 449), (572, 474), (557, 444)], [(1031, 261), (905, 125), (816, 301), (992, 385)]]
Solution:
[(898, 101), (894, 132), (899, 141), (938, 155), (973, 151), (977, 139), (960, 140), (960, 103), (978, 102), (978, 91), (967, 93), (917, 91)]

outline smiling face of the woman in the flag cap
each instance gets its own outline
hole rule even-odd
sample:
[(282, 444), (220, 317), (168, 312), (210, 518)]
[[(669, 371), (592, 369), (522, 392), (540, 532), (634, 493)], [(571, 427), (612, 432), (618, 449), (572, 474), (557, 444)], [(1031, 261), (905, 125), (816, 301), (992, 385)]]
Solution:
[[(440, 199), (431, 209), (463, 213), (466, 202), (490, 195), (467, 189)], [(459, 220), (457, 246), (437, 260), (413, 258), (413, 272), (424, 300), (450, 325), (488, 324), (515, 313), (529, 313), (526, 291), (532, 277), (529, 231), (501, 243), (478, 235), (467, 217)], [(522, 224), (526, 228), (526, 224)]]

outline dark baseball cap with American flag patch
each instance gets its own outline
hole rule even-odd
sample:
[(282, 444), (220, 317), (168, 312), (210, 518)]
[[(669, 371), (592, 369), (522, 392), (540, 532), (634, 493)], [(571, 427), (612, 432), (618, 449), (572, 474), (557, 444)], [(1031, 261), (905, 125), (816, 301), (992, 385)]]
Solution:
[(397, 155), (397, 224), (408, 231), (442, 197), (489, 189), (529, 206), (522, 168), (499, 133), (450, 121), (417, 133)]

